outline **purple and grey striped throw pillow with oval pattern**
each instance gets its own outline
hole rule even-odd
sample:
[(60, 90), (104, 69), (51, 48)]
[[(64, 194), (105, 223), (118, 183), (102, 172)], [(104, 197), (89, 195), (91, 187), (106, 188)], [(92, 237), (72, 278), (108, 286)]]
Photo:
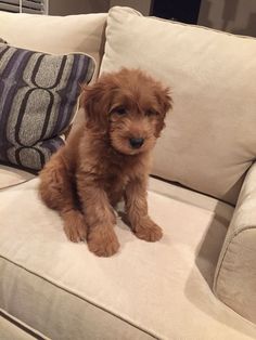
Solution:
[(0, 161), (40, 170), (64, 143), (93, 60), (0, 43)]

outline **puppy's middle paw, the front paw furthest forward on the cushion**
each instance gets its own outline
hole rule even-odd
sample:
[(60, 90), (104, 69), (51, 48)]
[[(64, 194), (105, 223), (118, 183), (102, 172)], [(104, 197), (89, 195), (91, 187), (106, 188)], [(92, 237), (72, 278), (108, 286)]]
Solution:
[(111, 257), (119, 249), (112, 227), (94, 227), (88, 235), (88, 248), (98, 257)]

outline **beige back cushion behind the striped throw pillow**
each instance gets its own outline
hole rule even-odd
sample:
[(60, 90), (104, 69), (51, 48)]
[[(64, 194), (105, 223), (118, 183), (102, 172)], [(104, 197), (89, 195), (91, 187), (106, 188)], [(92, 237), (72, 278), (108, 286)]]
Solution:
[(34, 51), (87, 53), (99, 67), (105, 21), (105, 13), (51, 16), (0, 11), (0, 37), (11, 45)]

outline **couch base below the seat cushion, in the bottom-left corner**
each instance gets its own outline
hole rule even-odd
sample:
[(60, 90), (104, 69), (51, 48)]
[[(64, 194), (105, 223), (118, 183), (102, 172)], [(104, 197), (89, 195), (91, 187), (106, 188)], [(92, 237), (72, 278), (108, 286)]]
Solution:
[(49, 338), (28, 327), (20, 319), (0, 309), (1, 340), (48, 340)]

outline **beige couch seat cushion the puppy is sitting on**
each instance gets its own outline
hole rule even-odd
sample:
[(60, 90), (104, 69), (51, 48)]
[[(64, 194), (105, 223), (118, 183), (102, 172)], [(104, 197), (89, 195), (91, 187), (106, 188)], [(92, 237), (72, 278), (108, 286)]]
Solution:
[(179, 200), (179, 188), (166, 184), (161, 194), (162, 183), (151, 180), (150, 212), (164, 238), (139, 240), (119, 220), (120, 251), (102, 259), (67, 241), (37, 185), (0, 192), (1, 308), (60, 340), (255, 339), (256, 327), (208, 286), (232, 207), (200, 207), (202, 196), (187, 199), (184, 189)]

